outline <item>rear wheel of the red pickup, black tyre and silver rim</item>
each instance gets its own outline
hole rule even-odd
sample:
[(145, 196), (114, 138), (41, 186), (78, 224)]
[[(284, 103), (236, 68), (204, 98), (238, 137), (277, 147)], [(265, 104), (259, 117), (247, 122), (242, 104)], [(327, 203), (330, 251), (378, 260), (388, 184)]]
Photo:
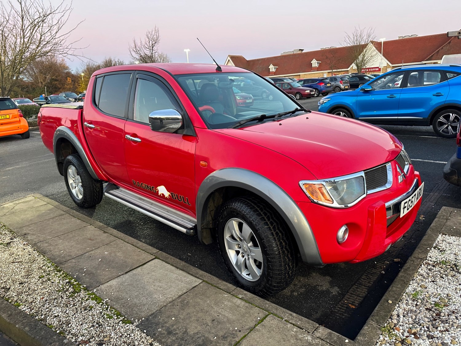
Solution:
[(91, 177), (82, 159), (72, 154), (64, 161), (64, 180), (72, 200), (81, 208), (91, 208), (100, 203), (102, 183)]

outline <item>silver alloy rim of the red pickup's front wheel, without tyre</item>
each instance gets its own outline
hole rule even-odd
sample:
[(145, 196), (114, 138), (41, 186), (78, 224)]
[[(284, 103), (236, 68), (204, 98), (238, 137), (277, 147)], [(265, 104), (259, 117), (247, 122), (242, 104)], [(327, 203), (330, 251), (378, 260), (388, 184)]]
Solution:
[(260, 245), (251, 228), (242, 220), (232, 218), (224, 227), (224, 242), (232, 265), (244, 279), (256, 281), (263, 270)]

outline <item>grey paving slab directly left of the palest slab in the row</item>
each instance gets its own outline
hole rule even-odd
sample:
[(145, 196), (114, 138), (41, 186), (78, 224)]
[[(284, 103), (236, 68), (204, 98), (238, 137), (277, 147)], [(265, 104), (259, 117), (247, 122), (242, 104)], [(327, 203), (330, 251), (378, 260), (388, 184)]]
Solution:
[[(109, 234), (107, 235), (109, 236)], [(123, 240), (117, 239), (107, 245), (61, 263), (59, 267), (63, 268), (83, 285), (86, 285), (88, 289), (92, 290), (131, 269), (139, 267), (153, 258), (154, 256), (147, 252), (139, 250), (133, 245), (125, 243)]]

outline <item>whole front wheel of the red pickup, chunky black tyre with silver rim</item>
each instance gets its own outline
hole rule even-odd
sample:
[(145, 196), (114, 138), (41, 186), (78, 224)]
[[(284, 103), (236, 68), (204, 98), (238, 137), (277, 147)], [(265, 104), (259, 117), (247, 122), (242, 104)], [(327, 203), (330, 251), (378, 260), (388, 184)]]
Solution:
[(219, 249), (238, 284), (268, 297), (290, 285), (296, 254), (284, 222), (264, 201), (231, 199), (218, 221)]

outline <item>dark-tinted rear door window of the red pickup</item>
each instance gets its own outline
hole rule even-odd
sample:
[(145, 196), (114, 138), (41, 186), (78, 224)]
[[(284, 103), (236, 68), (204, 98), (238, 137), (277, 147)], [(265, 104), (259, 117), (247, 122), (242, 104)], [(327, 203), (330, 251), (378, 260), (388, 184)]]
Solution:
[(101, 111), (118, 117), (125, 116), (130, 78), (131, 73), (104, 76), (98, 104)]

